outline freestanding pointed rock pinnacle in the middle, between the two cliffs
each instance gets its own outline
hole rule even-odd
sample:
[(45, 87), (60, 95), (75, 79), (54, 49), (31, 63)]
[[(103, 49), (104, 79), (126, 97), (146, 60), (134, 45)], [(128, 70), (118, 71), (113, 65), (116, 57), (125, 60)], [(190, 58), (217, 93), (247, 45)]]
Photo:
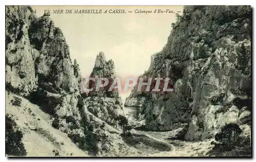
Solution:
[(106, 123), (117, 125), (119, 115), (124, 115), (124, 113), (118, 92), (108, 91), (116, 77), (114, 62), (112, 60), (106, 61), (104, 53), (100, 52), (90, 77), (108, 78), (109, 84), (100, 88), (99, 91), (95, 91), (97, 80), (89, 83), (89, 88), (94, 88), (94, 91), (91, 91), (89, 97), (85, 99), (88, 110)]

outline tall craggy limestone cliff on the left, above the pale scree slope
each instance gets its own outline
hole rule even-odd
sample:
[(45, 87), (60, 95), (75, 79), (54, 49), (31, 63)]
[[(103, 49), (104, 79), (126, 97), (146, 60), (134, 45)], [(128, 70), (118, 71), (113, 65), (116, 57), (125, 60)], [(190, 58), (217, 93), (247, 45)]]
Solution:
[[(6, 8), (6, 88), (40, 105), (67, 133), (80, 120), (81, 76), (75, 72), (69, 46), (49, 15), (37, 18), (25, 6)], [(74, 118), (72, 124), (67, 117)]]

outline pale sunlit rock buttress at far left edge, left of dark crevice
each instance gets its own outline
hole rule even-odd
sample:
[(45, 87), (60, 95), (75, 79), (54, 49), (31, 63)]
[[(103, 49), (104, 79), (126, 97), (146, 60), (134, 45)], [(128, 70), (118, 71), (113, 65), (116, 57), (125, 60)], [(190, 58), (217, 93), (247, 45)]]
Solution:
[(28, 28), (32, 10), (22, 7), (6, 8), (6, 85), (19, 94), (28, 95), (37, 88), (33, 48)]

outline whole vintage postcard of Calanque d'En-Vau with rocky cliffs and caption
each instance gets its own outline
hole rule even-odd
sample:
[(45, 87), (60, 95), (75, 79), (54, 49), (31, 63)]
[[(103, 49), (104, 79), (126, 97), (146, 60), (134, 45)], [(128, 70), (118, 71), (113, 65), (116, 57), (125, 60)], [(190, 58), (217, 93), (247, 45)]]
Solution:
[(250, 6), (6, 6), (6, 156), (251, 156)]

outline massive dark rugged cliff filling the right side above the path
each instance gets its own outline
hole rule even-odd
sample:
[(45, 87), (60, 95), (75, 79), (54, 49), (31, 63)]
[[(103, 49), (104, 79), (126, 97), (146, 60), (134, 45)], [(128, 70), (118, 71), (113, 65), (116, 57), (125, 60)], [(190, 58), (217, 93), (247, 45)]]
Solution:
[[(145, 127), (185, 126), (185, 139), (199, 140), (226, 123), (250, 122), (250, 35), (250, 6), (185, 6), (167, 44), (142, 75), (175, 82), (173, 93), (147, 95)], [(136, 93), (131, 96), (140, 97)]]

